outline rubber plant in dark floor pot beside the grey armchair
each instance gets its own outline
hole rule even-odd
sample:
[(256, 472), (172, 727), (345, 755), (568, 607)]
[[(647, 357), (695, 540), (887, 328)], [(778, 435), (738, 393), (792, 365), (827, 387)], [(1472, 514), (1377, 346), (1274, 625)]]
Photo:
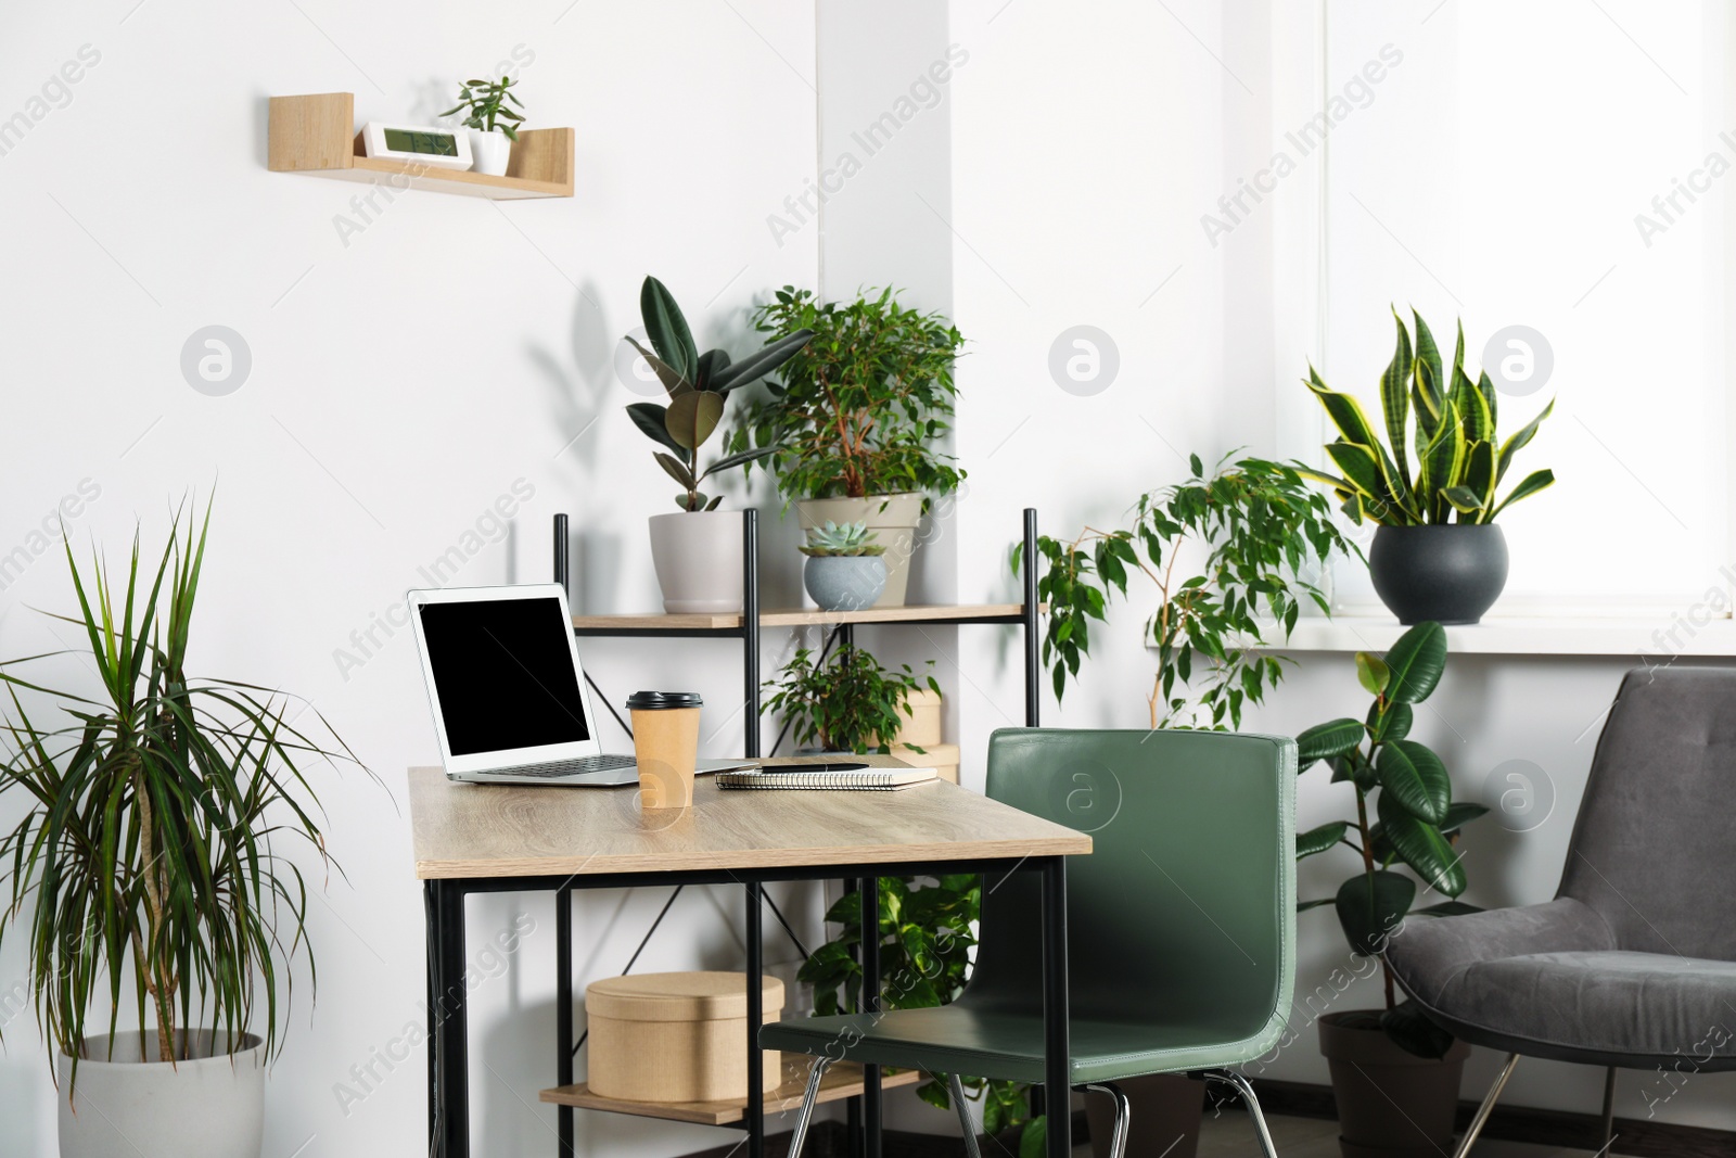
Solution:
[[(1451, 1153), (1458, 1080), (1470, 1047), (1399, 1002), (1382, 953), (1404, 936), (1411, 917), (1476, 911), (1458, 901), (1465, 891), (1463, 858), (1453, 849), (1460, 828), (1488, 809), (1453, 800), (1446, 764), (1411, 740), (1415, 705), (1424, 703), (1446, 668), (1446, 632), (1418, 623), (1384, 656), (1356, 653), (1356, 677), (1373, 703), (1361, 719), (1342, 717), (1297, 736), (1299, 767), (1325, 762), (1332, 781), (1351, 786), (1356, 814), (1297, 835), (1297, 859), (1337, 847), (1356, 854), (1358, 872), (1335, 896), (1297, 905), (1299, 911), (1332, 906), (1351, 953), (1378, 960), (1385, 983), (1380, 1009), (1328, 1012), (1319, 1017), (1319, 1049), (1332, 1068), (1345, 1155)], [(1399, 872), (1415, 873), (1415, 878)], [(1418, 880), (1424, 891), (1418, 892)], [(1417, 901), (1439, 894), (1439, 901)], [(1359, 970), (1335, 970), (1344, 991)]]

